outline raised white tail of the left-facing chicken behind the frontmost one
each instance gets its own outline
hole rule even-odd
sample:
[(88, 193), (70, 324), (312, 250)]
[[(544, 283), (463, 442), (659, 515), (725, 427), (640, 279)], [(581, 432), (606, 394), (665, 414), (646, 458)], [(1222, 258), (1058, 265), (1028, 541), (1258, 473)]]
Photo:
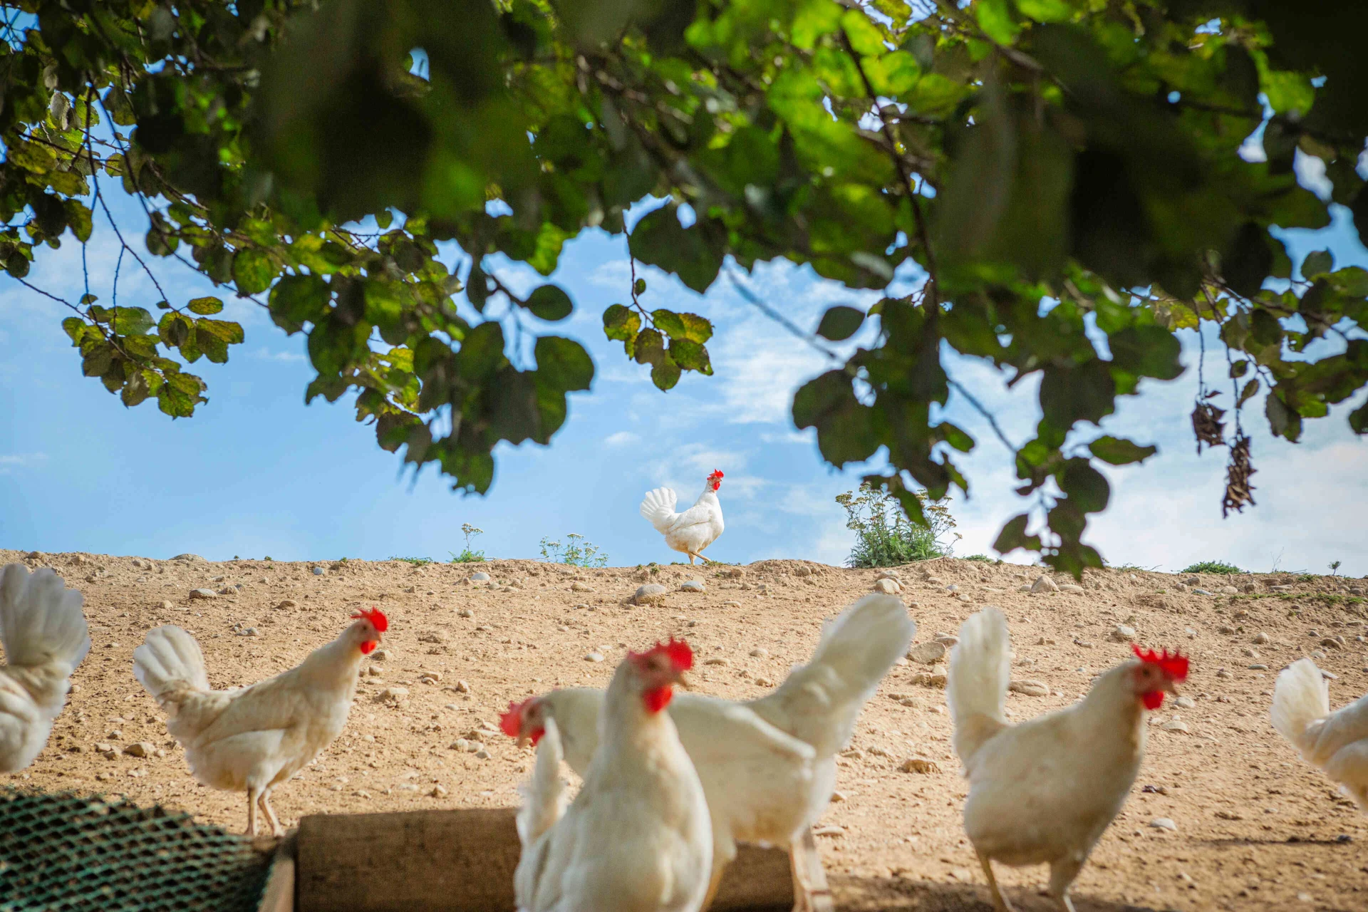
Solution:
[(807, 665), (750, 706), (766, 722), (813, 745), (819, 759), (829, 757), (850, 742), (866, 700), (915, 634), (917, 623), (902, 599), (867, 595), (826, 625)]

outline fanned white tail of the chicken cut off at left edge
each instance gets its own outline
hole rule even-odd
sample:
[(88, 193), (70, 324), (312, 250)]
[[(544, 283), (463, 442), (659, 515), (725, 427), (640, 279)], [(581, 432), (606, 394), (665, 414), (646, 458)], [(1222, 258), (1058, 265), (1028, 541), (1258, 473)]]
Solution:
[(90, 636), (81, 613), (82, 596), (66, 588), (56, 573), (44, 567), (31, 574), (22, 563), (0, 569), (0, 643), (5, 662), (34, 667), (56, 662), (67, 673), (90, 651)]

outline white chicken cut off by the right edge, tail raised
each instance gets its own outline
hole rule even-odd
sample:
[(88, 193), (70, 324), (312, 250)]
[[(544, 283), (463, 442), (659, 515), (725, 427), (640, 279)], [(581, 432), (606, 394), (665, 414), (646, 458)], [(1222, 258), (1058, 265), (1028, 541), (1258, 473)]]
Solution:
[(1368, 812), (1368, 696), (1331, 712), (1326, 675), (1311, 659), (1297, 659), (1274, 685), (1272, 718), (1306, 763)]

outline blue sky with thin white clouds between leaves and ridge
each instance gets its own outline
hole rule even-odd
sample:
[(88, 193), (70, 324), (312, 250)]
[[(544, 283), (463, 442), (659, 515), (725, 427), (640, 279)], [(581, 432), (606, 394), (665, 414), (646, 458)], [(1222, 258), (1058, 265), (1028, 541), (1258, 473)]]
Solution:
[[(1323, 180), (1305, 164), (1301, 171), (1311, 186)], [(129, 200), (116, 201), (115, 212), (126, 230), (144, 222)], [(88, 258), (101, 304), (115, 265), (111, 241), (97, 219)], [(1330, 247), (1337, 267), (1368, 267), (1368, 250), (1342, 208), (1326, 231), (1291, 232), (1287, 241), (1294, 260)], [(79, 252), (68, 235), (60, 252), (42, 252), (30, 280), (74, 299), (82, 290)], [(179, 264), (157, 260), (153, 268), (172, 297), (213, 293)], [(832, 470), (811, 432), (795, 431), (788, 417), (792, 391), (826, 369), (825, 357), (746, 304), (725, 278), (699, 297), (654, 269), (639, 267), (639, 273), (650, 286), (648, 306), (714, 321), (715, 376), (687, 375), (662, 394), (620, 345), (603, 338), (599, 314), (627, 295), (625, 243), (586, 232), (566, 246), (554, 276), (580, 308), (555, 331), (590, 349), (594, 390), (572, 395), (569, 420), (550, 447), (501, 447), (484, 498), (453, 494), (431, 469), (417, 479), (402, 472), (399, 459), (375, 444), (372, 429), (354, 421), (346, 399), (305, 406), (313, 372), (304, 336), (286, 336), (254, 305), (228, 302), (226, 316), (244, 324), (246, 342), (231, 350), (227, 365), (192, 368), (208, 380), (209, 403), (193, 418), (172, 421), (153, 401), (129, 410), (98, 380), (82, 377), (60, 328), (60, 305), (0, 275), (0, 547), (157, 558), (193, 551), (211, 559), (445, 559), (461, 548), (460, 528), (471, 522), (484, 529), (475, 544), (491, 556), (538, 556), (543, 536), (564, 540), (576, 532), (613, 565), (665, 562), (677, 555), (637, 514), (642, 495), (669, 485), (692, 502), (703, 476), (722, 469), (728, 525), (710, 548), (714, 558), (840, 563), (852, 533), (833, 498), (858, 484), (863, 469)], [(535, 282), (506, 264), (501, 276), (514, 287)], [(832, 304), (877, 299), (789, 264), (761, 267), (744, 280), (804, 328)], [(150, 309), (159, 297), (129, 260), (119, 287), (126, 304)], [(1308, 423), (1298, 446), (1272, 440), (1261, 399), (1250, 402), (1245, 427), (1259, 469), (1257, 506), (1222, 520), (1226, 455), (1194, 454), (1186, 416), (1197, 386), (1196, 334), (1183, 334), (1183, 343), (1190, 369), (1171, 383), (1146, 383), (1145, 395), (1122, 401), (1103, 425), (1156, 443), (1160, 453), (1141, 468), (1108, 472), (1111, 506), (1093, 520), (1088, 540), (1112, 563), (1145, 567), (1174, 570), (1219, 558), (1257, 570), (1323, 572), (1338, 559), (1341, 573), (1368, 574), (1361, 520), (1368, 442), (1345, 423), (1364, 394)], [(1014, 442), (1030, 436), (1038, 418), (1033, 384), (1008, 394), (990, 366), (963, 358), (949, 366)], [(1220, 366), (1209, 379), (1222, 377)], [(1022, 509), (1012, 494), (1011, 454), (959, 397), (947, 412), (979, 440), (960, 459), (971, 498), (952, 505), (963, 535), (956, 554), (986, 552), (1001, 522)], [(1010, 559), (1026, 561), (1022, 552)]]

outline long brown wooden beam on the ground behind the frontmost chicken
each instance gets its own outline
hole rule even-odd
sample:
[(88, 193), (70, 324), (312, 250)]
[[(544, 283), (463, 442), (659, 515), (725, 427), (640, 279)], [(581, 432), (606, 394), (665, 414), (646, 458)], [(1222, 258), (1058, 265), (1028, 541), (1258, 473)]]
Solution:
[[(514, 815), (464, 808), (306, 816), (297, 842), (297, 909), (508, 912), (521, 853)], [(711, 911), (788, 912), (796, 900), (788, 853), (741, 845)]]

